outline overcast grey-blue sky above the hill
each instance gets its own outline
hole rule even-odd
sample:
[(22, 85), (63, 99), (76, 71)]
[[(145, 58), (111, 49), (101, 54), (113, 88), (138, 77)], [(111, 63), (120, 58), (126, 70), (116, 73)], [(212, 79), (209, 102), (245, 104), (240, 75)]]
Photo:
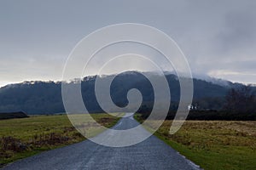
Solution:
[(256, 1), (0, 1), (0, 86), (61, 80), (91, 31), (132, 22), (166, 32), (194, 74), (256, 83)]

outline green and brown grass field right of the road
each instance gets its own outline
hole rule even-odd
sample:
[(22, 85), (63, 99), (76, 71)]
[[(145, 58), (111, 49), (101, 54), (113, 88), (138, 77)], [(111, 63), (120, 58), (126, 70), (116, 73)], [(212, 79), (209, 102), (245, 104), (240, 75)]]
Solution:
[(171, 124), (154, 134), (202, 168), (256, 169), (256, 122), (186, 121), (170, 135)]

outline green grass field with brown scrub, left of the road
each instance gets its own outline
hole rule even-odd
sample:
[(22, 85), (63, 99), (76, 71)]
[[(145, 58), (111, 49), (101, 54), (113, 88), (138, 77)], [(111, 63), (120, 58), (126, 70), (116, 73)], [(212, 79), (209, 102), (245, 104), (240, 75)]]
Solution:
[[(111, 127), (119, 120), (108, 114), (91, 116), (105, 127)], [(84, 136), (73, 127), (67, 115), (0, 120), (0, 167), (44, 150), (82, 140)]]

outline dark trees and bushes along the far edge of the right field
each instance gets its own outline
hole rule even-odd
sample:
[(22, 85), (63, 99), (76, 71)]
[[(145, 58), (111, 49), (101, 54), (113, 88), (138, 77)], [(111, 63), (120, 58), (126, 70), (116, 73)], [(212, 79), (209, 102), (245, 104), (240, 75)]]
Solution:
[[(256, 95), (250, 86), (231, 88), (224, 98), (193, 100), (188, 120), (244, 120), (256, 121)], [(166, 119), (176, 116), (177, 102), (172, 102)], [(138, 113), (146, 119), (153, 105), (143, 105)]]

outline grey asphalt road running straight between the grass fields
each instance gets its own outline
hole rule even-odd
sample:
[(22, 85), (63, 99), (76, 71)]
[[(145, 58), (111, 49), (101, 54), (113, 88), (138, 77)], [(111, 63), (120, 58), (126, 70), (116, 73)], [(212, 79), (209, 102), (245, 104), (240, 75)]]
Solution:
[[(123, 130), (137, 125), (139, 123), (132, 116), (128, 116), (120, 119), (113, 129)], [(102, 146), (90, 140), (84, 140), (78, 144), (45, 151), (3, 167), (3, 170), (26, 169), (193, 170), (199, 167), (152, 135), (139, 144), (120, 148)]]

